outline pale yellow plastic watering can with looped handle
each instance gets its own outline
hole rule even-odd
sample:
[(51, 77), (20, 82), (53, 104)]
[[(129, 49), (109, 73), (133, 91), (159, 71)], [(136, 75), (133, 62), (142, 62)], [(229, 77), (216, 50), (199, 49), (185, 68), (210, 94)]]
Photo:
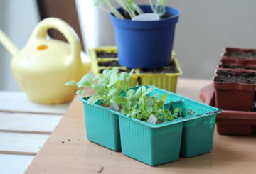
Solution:
[[(54, 28), (68, 43), (50, 38)], [(64, 86), (69, 80), (80, 80), (90, 71), (90, 59), (81, 52), (80, 40), (68, 23), (58, 18), (46, 18), (34, 29), (22, 50), (0, 30), (0, 42), (13, 55), (11, 70), (18, 86), (33, 102), (57, 104), (73, 99), (76, 88)]]

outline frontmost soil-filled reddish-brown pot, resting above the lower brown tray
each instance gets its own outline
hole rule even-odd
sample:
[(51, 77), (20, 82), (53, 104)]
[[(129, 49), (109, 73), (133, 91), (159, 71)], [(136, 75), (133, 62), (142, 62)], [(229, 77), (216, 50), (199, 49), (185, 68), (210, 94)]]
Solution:
[[(252, 111), (255, 99), (256, 84), (238, 82), (217, 82), (218, 72), (229, 71), (234, 74), (248, 73), (248, 70), (218, 69), (213, 77), (215, 104), (220, 109)], [(250, 71), (249, 71), (250, 72)], [(254, 71), (251, 71), (255, 73)], [(256, 76), (256, 73), (255, 73)]]

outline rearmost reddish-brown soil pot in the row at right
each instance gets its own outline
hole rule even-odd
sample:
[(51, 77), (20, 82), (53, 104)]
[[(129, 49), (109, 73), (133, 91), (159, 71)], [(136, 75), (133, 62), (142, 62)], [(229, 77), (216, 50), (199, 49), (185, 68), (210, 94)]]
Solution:
[[(240, 55), (233, 55), (240, 53)], [(233, 60), (242, 64), (256, 64), (256, 50), (242, 48), (225, 48), (221, 55), (222, 60)]]

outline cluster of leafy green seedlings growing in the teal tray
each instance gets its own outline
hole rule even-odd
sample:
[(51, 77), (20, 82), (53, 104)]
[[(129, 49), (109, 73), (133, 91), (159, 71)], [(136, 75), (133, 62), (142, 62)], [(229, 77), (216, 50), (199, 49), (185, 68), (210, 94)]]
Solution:
[(85, 89), (90, 88), (95, 90), (87, 102), (95, 104), (101, 101), (105, 107), (112, 107), (116, 104), (119, 107), (119, 112), (134, 119), (148, 121), (153, 114), (157, 123), (174, 120), (178, 116), (181, 109), (164, 109), (166, 97), (169, 95), (163, 94), (159, 99), (159, 94), (156, 93), (149, 97), (148, 95), (154, 91), (155, 87), (151, 86), (146, 89), (145, 86), (139, 87), (136, 91), (129, 89), (129, 79), (132, 77), (134, 70), (129, 74), (122, 72), (118, 74), (118, 69), (106, 69), (102, 72), (102, 79), (93, 77), (92, 74), (87, 74), (82, 77), (79, 82), (69, 81), (65, 85), (75, 85), (78, 87), (77, 94), (85, 95)]

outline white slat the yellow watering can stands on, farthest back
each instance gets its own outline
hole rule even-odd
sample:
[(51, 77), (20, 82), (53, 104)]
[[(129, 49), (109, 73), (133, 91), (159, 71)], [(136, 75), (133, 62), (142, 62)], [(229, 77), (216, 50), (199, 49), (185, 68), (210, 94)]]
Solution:
[(37, 104), (31, 102), (23, 92), (0, 91), (0, 111), (65, 114), (69, 103)]

